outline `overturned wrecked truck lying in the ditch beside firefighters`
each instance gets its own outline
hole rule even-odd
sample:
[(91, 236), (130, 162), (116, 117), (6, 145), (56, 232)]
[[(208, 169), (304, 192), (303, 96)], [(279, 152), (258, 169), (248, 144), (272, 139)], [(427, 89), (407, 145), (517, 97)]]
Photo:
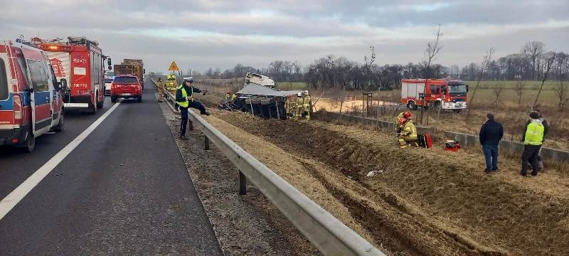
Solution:
[(265, 75), (247, 73), (245, 87), (236, 92), (229, 104), (237, 110), (250, 112), (262, 118), (287, 119), (287, 97), (302, 91), (283, 91), (275, 88), (275, 82)]

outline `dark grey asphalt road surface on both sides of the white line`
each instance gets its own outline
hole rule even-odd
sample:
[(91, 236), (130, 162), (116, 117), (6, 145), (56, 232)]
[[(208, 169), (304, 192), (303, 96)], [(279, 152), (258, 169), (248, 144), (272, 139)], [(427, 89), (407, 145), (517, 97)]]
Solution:
[[(1, 255), (222, 255), (147, 82), (122, 102), (0, 220)], [(0, 149), (0, 198), (83, 132), (95, 116), (69, 112), (65, 131), (30, 154)]]

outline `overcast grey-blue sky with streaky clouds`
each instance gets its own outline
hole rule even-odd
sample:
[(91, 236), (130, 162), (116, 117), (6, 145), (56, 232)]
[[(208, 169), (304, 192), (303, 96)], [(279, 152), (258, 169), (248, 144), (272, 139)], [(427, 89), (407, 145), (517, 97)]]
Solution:
[(142, 58), (147, 71), (172, 60), (187, 70), (303, 65), (334, 54), (363, 62), (417, 63), (440, 23), (437, 63), (464, 65), (517, 53), (527, 41), (569, 51), (569, 0), (0, 0), (0, 37), (87, 36), (114, 62)]

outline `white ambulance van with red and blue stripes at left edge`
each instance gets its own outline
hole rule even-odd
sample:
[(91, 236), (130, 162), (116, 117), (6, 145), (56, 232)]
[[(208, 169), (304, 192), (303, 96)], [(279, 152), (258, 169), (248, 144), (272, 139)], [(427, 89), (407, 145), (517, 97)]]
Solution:
[(0, 40), (0, 145), (31, 152), (36, 137), (64, 125), (62, 88), (43, 50)]

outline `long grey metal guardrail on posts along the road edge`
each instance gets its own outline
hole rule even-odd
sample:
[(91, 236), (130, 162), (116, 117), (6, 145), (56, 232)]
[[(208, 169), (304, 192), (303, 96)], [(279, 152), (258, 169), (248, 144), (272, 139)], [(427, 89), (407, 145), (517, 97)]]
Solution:
[[(170, 92), (164, 93), (176, 101)], [(208, 150), (209, 142), (213, 142), (237, 166), (240, 171), (240, 194), (246, 193), (248, 179), (324, 255), (384, 255), (198, 114), (189, 111), (188, 117), (205, 134), (205, 149)]]

